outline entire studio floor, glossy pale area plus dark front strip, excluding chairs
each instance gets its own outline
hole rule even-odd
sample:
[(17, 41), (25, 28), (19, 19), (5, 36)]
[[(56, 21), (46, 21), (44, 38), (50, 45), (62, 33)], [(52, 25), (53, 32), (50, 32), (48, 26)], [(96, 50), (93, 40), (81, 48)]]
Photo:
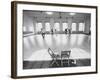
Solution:
[[(31, 35), (23, 39), (23, 69), (34, 68), (53, 68), (53, 67), (77, 67), (91, 65), (91, 39), (90, 35), (86, 34), (46, 34)], [(82, 59), (77, 59), (77, 63), (73, 64), (73, 59), (70, 60), (70, 65), (64, 63), (61, 66), (61, 61), (58, 60), (59, 66), (52, 65), (51, 58), (47, 50), (52, 48), (54, 52), (61, 52), (62, 50), (73, 50), (74, 56), (80, 56), (80, 53), (85, 56)], [(82, 56), (81, 55), (81, 56)], [(87, 59), (87, 56), (89, 58)], [(49, 59), (50, 58), (50, 59)]]

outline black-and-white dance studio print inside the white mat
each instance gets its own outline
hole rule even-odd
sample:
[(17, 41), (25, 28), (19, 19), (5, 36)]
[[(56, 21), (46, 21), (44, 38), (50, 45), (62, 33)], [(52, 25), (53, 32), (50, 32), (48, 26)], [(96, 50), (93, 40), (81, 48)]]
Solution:
[(91, 14), (23, 10), (23, 69), (91, 66)]

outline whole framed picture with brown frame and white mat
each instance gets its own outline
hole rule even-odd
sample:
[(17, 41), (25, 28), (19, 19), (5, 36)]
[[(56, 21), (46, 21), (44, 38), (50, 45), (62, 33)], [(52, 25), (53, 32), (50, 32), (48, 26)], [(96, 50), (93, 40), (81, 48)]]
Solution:
[(12, 2), (12, 76), (97, 73), (97, 7)]

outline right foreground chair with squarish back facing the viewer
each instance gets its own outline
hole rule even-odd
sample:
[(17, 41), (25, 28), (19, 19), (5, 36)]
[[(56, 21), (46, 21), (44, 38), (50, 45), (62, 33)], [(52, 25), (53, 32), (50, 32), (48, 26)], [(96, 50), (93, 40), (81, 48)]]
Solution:
[(61, 51), (61, 66), (63, 66), (64, 63), (68, 63), (69, 66), (69, 58), (70, 58), (71, 51)]

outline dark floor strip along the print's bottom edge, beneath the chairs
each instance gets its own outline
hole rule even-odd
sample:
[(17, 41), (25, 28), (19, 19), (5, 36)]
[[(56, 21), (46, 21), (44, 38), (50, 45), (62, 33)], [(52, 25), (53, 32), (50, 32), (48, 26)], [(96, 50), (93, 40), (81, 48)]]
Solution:
[(82, 67), (82, 66), (91, 66), (90, 59), (78, 59), (76, 63), (74, 60), (64, 60), (63, 65), (61, 64), (61, 60), (57, 60), (57, 63), (51, 65), (52, 61), (23, 61), (23, 69), (39, 69), (39, 68), (60, 68), (60, 67)]

